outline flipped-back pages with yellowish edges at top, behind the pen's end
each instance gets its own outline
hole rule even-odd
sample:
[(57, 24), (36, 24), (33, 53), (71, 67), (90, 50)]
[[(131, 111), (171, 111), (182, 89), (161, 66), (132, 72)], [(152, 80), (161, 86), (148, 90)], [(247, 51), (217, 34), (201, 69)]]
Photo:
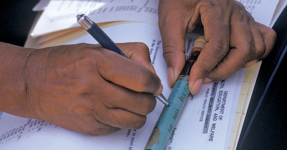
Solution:
[[(257, 22), (272, 27), (286, 0), (239, 0)], [(34, 11), (43, 11), (30, 33), (34, 39), (26, 47), (42, 48), (65, 44), (87, 32), (75, 19), (86, 14), (101, 28), (124, 22), (144, 22), (158, 25), (158, 0), (41, 0)], [(51, 45), (52, 43), (52, 45)]]

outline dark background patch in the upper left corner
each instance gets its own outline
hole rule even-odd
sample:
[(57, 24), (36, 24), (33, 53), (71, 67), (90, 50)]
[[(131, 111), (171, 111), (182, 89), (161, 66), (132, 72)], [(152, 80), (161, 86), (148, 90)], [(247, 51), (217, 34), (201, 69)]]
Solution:
[(38, 12), (32, 8), (39, 0), (1, 0), (0, 41), (24, 46)]

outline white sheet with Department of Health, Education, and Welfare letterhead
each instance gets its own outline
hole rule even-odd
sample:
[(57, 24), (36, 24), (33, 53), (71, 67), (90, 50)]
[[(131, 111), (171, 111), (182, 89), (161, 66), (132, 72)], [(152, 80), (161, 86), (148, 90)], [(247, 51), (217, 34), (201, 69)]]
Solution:
[[(144, 42), (148, 45), (154, 68), (164, 87), (163, 94), (168, 97), (171, 88), (168, 87), (167, 69), (162, 57), (162, 44), (158, 28), (144, 23), (129, 23), (106, 28), (104, 32), (116, 43)], [(186, 45), (189, 52), (196, 37), (197, 35), (187, 36)], [(81, 42), (97, 43), (92, 36), (86, 35), (70, 44)], [(243, 75), (244, 69), (225, 81), (216, 82), (215, 101), (212, 105), (209, 126), (206, 132), (204, 132), (204, 124), (214, 82), (203, 84), (196, 96), (189, 96), (175, 126), (176, 129), (174, 128), (174, 133), (167, 145), (167, 149), (227, 149)], [(224, 99), (224, 110), (222, 110), (224, 93), (227, 95), (226, 99)], [(219, 97), (221, 101), (218, 101)], [(149, 139), (163, 106), (164, 104), (158, 101), (154, 111), (148, 114), (146, 124), (138, 130), (121, 129), (102, 136), (88, 136), (61, 128), (46, 121), (20, 118), (1, 113), (0, 147), (1, 150), (142, 150)], [(217, 108), (218, 110), (216, 110)], [(204, 112), (203, 116), (201, 116), (202, 112)], [(215, 115), (215, 113), (218, 115)], [(213, 124), (214, 126), (212, 126)], [(211, 136), (213, 136), (212, 141), (210, 141)]]

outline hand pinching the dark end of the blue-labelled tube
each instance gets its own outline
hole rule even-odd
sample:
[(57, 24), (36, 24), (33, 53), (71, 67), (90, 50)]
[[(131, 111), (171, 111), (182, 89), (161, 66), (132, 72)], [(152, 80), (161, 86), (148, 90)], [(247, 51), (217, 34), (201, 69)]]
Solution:
[(185, 35), (203, 26), (207, 44), (191, 68), (189, 90), (203, 82), (225, 79), (265, 58), (276, 33), (252, 18), (234, 0), (160, 0), (159, 28), (168, 80), (173, 86), (185, 62)]

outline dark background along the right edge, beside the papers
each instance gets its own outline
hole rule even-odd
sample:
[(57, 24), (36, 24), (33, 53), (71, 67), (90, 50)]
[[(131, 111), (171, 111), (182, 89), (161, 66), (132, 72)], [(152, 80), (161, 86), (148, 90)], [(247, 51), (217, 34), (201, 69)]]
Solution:
[(287, 7), (273, 29), (277, 40), (272, 53), (262, 61), (237, 149), (287, 149), (287, 63), (282, 55), (287, 50)]

